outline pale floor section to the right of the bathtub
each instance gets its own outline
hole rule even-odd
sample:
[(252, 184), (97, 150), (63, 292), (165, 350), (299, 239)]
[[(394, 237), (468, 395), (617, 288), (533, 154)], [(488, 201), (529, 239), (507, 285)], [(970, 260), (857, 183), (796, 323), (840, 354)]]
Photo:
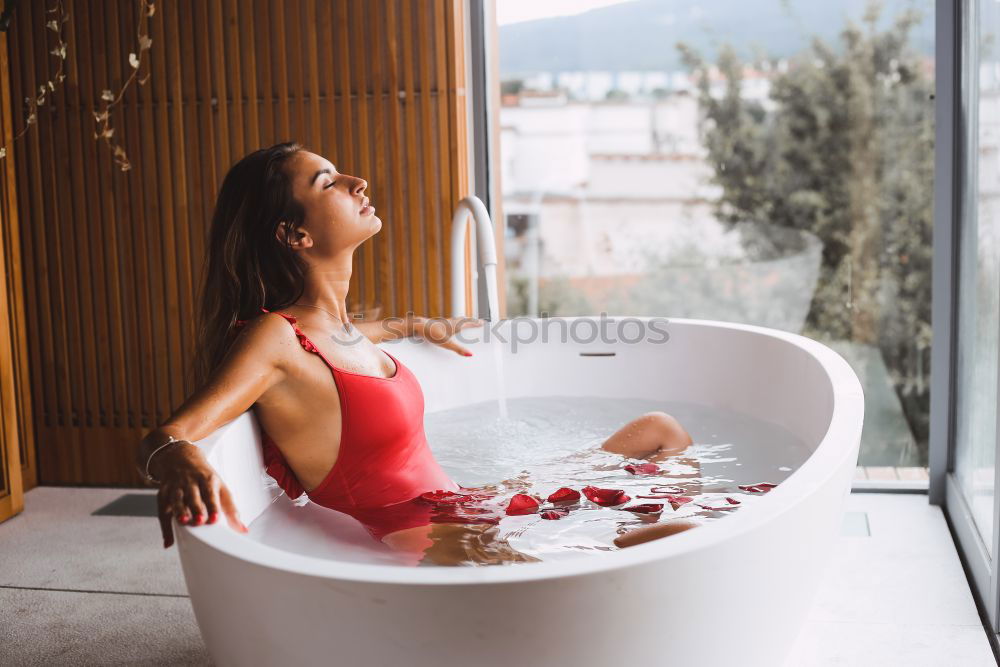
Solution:
[(940, 508), (919, 494), (852, 494), (786, 665), (996, 664)]

